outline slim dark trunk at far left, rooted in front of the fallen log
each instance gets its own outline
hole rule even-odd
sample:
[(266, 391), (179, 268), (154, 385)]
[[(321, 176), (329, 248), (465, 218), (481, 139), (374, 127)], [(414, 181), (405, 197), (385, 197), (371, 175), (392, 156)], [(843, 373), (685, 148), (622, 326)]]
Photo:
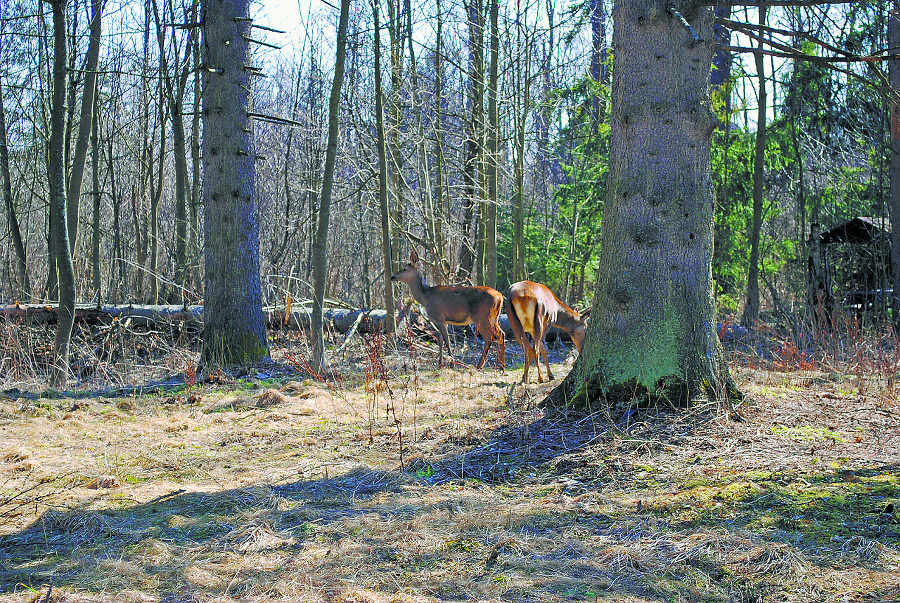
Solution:
[(53, 0), (53, 101), (50, 107), (50, 237), (59, 286), (54, 362), (50, 382), (64, 387), (69, 376), (69, 346), (75, 322), (75, 269), (66, 224), (66, 0)]

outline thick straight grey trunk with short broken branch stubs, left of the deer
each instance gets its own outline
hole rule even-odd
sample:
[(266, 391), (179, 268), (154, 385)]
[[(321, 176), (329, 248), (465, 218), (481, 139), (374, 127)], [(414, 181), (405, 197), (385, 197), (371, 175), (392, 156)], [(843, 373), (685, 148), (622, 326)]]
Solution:
[(204, 0), (203, 365), (268, 355), (259, 277), (259, 200), (250, 117), (250, 0)]

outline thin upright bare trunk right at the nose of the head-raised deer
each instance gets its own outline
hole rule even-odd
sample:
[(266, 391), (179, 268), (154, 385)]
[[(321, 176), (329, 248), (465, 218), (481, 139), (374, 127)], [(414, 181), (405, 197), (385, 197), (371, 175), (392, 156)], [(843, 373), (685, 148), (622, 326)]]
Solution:
[(378, 19), (378, 0), (372, 8), (375, 21), (375, 131), (378, 145), (378, 207), (381, 210), (381, 255), (384, 270), (384, 305), (387, 310), (387, 333), (392, 336), (397, 327), (394, 323), (393, 253), (391, 253), (391, 223), (387, 198), (387, 151), (384, 136), (384, 93), (381, 89), (381, 24)]

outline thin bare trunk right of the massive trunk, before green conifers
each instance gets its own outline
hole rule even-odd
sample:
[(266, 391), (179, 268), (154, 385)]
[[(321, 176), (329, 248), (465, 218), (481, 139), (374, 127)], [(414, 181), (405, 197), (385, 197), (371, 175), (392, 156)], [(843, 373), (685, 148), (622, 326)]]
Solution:
[[(766, 5), (759, 7), (759, 23), (766, 23)], [(759, 47), (763, 47), (760, 39)], [(759, 321), (759, 238), (762, 230), (762, 204), (766, 165), (766, 71), (764, 55), (755, 55), (756, 71), (759, 76), (759, 109), (756, 117), (756, 147), (753, 154), (753, 223), (750, 227), (750, 267), (747, 272), (747, 303), (741, 324), (753, 328)]]

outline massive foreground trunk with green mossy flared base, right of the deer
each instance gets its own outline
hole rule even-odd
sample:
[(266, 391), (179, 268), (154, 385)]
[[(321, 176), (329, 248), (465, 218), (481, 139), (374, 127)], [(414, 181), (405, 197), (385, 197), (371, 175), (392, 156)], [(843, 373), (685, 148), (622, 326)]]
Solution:
[(550, 402), (724, 398), (715, 330), (710, 137), (712, 13), (614, 8), (610, 174), (581, 356)]

